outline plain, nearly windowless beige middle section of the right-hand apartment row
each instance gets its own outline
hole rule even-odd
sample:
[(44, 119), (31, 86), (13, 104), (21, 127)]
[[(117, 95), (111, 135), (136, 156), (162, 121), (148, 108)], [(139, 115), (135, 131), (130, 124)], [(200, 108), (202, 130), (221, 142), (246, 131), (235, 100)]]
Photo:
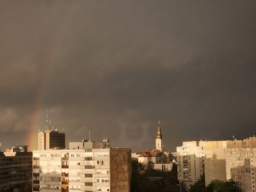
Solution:
[(204, 147), (205, 186), (212, 180), (226, 181), (225, 149), (227, 141), (206, 141)]

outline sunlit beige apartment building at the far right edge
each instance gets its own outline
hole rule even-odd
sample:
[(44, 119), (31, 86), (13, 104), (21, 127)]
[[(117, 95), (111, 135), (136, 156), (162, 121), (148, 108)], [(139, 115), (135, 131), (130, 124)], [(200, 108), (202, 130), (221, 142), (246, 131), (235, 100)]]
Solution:
[(255, 192), (256, 137), (227, 141), (226, 179), (232, 179), (242, 192)]

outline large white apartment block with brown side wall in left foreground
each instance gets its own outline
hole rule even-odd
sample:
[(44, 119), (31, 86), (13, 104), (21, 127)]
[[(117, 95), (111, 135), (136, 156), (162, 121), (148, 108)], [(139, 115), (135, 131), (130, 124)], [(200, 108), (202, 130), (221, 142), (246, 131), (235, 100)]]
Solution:
[(33, 191), (131, 191), (131, 150), (109, 140), (83, 140), (69, 149), (33, 151)]

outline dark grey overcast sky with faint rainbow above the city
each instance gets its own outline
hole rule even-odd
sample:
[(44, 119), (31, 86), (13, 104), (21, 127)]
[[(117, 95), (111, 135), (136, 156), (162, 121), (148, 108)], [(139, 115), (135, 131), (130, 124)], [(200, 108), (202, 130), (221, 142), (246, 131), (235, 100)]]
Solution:
[[(0, 142), (256, 134), (256, 1), (0, 1)], [(37, 116), (37, 119), (36, 119)]]

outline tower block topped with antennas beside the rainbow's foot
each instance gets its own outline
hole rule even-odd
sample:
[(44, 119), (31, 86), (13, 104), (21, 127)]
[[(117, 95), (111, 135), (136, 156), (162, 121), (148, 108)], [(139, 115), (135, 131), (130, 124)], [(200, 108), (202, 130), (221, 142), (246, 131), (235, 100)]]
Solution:
[(45, 123), (45, 131), (38, 132), (38, 150), (65, 148), (65, 133), (57, 131), (55, 124), (49, 119), (48, 111)]

